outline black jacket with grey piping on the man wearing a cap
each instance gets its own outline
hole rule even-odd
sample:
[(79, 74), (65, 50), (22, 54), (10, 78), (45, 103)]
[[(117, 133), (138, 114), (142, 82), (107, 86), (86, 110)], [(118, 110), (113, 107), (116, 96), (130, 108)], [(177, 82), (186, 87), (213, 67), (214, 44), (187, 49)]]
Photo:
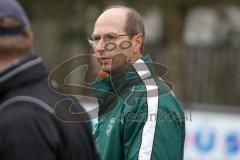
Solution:
[(54, 114), (64, 97), (49, 89), (47, 78), (33, 55), (0, 72), (0, 160), (98, 159), (89, 124)]

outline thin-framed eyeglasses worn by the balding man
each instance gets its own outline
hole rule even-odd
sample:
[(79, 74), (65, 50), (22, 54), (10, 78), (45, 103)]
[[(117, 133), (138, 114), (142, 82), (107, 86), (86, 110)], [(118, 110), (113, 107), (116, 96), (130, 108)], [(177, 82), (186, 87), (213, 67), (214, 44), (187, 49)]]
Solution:
[[(103, 39), (103, 42), (106, 44), (106, 43), (113, 43), (116, 41), (116, 39), (118, 37), (121, 37), (121, 36), (129, 36), (130, 34), (121, 34), (121, 35), (118, 35), (118, 34), (106, 34), (104, 36), (99, 36), (99, 35), (95, 35), (95, 36), (91, 36), (88, 38), (88, 42), (90, 44), (90, 46), (94, 47), (96, 46), (96, 44), (101, 40)], [(131, 34), (131, 35), (135, 35), (135, 34)]]

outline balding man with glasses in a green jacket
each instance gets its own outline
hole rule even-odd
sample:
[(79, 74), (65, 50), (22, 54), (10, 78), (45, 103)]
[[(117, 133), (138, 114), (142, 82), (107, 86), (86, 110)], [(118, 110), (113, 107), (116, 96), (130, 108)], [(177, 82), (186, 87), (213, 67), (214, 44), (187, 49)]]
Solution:
[(99, 100), (95, 141), (103, 160), (182, 160), (184, 113), (143, 56), (144, 24), (114, 6), (97, 19), (90, 44), (109, 77), (93, 85)]

